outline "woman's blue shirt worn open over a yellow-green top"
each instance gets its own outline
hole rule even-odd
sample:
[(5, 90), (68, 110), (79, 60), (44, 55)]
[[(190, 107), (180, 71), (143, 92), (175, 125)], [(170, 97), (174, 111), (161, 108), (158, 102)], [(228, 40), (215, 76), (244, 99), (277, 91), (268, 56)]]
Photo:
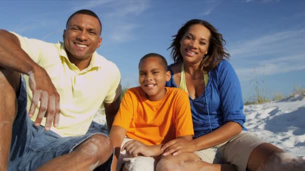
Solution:
[[(174, 72), (166, 86), (177, 87)], [(205, 135), (228, 121), (239, 123), (243, 130), (246, 116), (243, 113), (243, 100), (238, 77), (227, 60), (221, 60), (209, 73), (205, 92), (192, 99), (189, 96), (193, 117), (194, 138)]]

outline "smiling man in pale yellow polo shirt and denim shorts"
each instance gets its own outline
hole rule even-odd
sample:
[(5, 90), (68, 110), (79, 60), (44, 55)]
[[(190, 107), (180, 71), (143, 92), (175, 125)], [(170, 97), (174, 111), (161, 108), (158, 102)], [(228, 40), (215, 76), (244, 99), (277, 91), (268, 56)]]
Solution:
[(63, 43), (0, 30), (0, 170), (109, 168), (111, 141), (87, 132), (102, 103), (110, 130), (120, 103), (120, 72), (95, 52), (101, 30), (86, 9), (69, 17)]

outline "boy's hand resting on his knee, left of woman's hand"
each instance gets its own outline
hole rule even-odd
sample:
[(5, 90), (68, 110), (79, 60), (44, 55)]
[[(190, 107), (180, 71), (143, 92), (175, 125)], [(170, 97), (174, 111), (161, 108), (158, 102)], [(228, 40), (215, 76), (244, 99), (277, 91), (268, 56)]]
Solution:
[(149, 149), (149, 145), (145, 145), (137, 140), (130, 140), (126, 142), (121, 151), (126, 150), (126, 153), (131, 157), (136, 157), (138, 155), (150, 156), (151, 150)]

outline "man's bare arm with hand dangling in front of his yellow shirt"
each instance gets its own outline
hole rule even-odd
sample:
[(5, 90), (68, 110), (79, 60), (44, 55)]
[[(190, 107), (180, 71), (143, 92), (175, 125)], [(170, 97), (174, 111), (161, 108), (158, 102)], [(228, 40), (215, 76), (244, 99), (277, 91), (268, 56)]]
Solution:
[(29, 84), (33, 91), (30, 117), (40, 102), (35, 125), (40, 125), (42, 118), (46, 116), (46, 130), (50, 129), (52, 122), (57, 126), (60, 115), (59, 94), (48, 73), (21, 48), (16, 35), (3, 29), (0, 29), (0, 66), (29, 75)]

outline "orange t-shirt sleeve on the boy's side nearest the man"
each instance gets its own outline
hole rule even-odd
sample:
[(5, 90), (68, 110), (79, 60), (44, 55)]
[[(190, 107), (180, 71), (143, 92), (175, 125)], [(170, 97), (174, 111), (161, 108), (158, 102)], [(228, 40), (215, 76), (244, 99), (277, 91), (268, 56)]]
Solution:
[(132, 101), (132, 92), (127, 90), (121, 101), (120, 108), (114, 117), (112, 125), (121, 126), (128, 130), (133, 119), (134, 104)]

